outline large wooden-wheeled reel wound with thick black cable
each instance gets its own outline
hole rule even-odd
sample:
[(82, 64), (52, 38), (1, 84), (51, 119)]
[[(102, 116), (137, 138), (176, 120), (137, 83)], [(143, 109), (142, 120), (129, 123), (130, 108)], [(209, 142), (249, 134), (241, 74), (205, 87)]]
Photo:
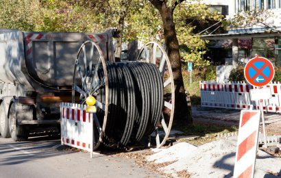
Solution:
[(169, 137), (175, 93), (167, 53), (159, 44), (149, 42), (137, 59), (106, 61), (93, 41), (84, 42), (77, 53), (72, 102), (85, 104), (90, 96), (96, 99), (94, 150), (101, 143), (124, 148), (144, 136), (154, 138), (151, 143), (162, 147)]

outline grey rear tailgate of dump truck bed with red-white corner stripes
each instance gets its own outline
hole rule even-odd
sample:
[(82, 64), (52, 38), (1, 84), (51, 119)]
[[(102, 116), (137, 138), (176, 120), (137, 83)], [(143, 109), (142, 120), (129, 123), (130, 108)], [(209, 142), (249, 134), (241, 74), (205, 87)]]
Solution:
[(27, 71), (47, 86), (72, 85), (77, 51), (86, 40), (98, 42), (106, 60), (112, 58), (108, 34), (23, 32), (23, 39)]

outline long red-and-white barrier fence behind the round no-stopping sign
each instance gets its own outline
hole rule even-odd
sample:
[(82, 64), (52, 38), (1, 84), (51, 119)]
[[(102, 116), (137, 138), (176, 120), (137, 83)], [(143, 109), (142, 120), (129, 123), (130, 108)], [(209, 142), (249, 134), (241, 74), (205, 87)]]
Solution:
[[(245, 82), (217, 83), (215, 81), (200, 81), (201, 106), (223, 107), (232, 109), (260, 109), (260, 101), (251, 101), (249, 90), (258, 87)], [(271, 89), (271, 99), (263, 100), (262, 109), (265, 112), (281, 112), (281, 84), (271, 82), (265, 88)], [(262, 93), (261, 93), (262, 94)]]

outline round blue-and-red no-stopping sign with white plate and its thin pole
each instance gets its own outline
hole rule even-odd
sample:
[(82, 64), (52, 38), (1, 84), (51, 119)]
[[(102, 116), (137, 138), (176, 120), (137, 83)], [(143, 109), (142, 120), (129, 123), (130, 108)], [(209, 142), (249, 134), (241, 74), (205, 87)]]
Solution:
[[(244, 68), (245, 79), (249, 84), (256, 87), (262, 87), (269, 84), (274, 77), (273, 64), (266, 58), (261, 58), (256, 55), (256, 58), (249, 60)], [(265, 91), (264, 91), (265, 90)], [(260, 94), (265, 93), (265, 94)], [(262, 118), (263, 134), (265, 137), (265, 147), (267, 148), (267, 133), (265, 131), (265, 116), (263, 114), (263, 100), (271, 98), (271, 90), (269, 88), (252, 89), (250, 91), (252, 101), (260, 102), (260, 112)]]

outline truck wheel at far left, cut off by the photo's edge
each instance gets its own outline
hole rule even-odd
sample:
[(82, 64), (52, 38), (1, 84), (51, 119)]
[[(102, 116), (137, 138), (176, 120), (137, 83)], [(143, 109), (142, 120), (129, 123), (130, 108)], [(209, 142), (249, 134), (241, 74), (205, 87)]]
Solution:
[(4, 101), (0, 105), (0, 133), (3, 138), (10, 138), (9, 120)]

